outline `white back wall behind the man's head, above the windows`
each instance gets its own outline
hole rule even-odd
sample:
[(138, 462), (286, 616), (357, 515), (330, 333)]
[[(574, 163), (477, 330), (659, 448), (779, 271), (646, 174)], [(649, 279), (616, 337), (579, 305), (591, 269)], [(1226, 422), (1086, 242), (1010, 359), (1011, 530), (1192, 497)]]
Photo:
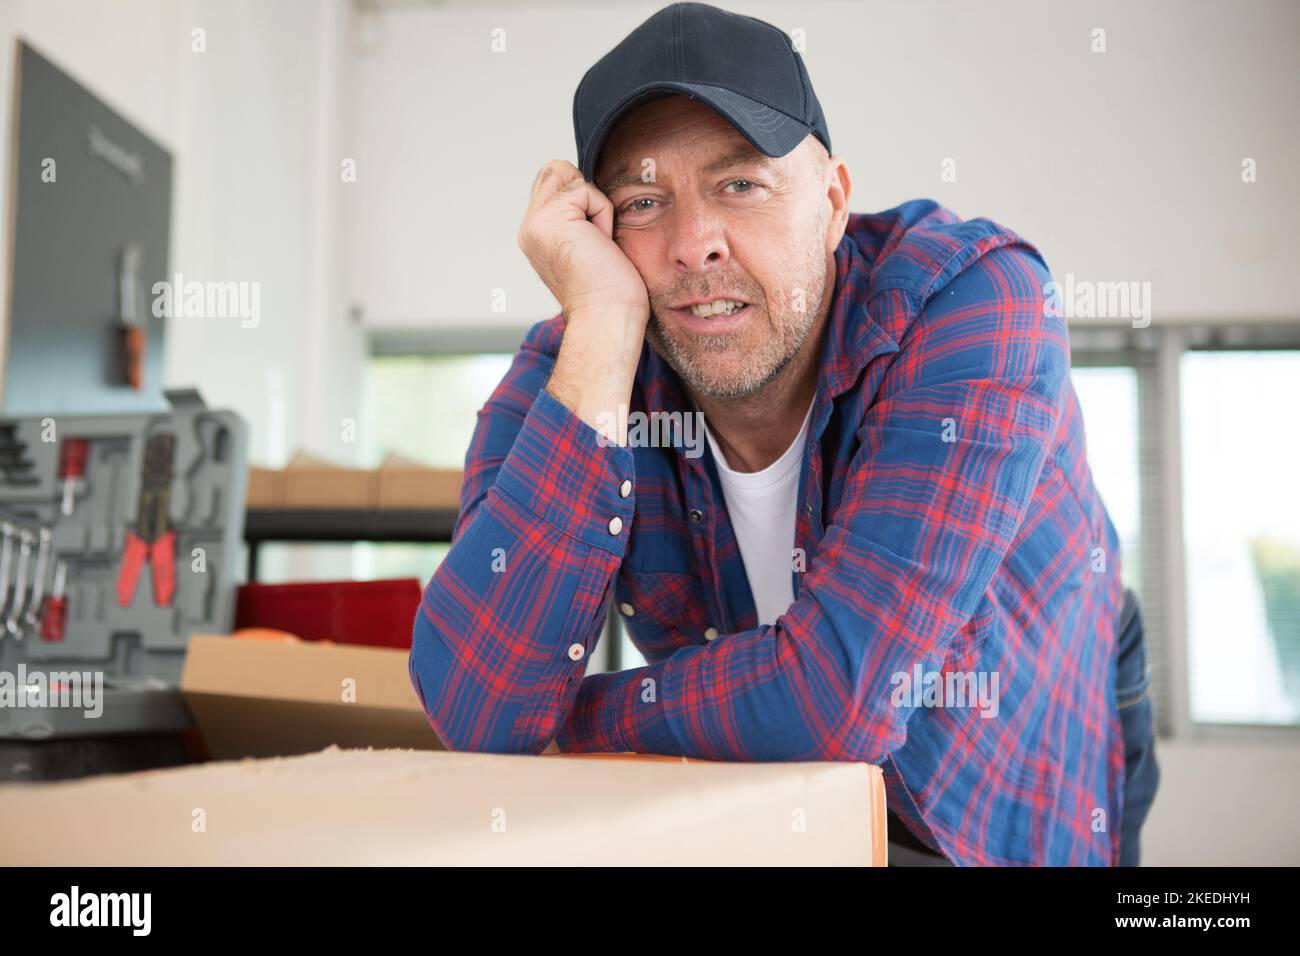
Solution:
[[(351, 295), (372, 326), (526, 326), (515, 246), (537, 169), (573, 161), (573, 90), (660, 3), (398, 7), (355, 62)], [(1300, 7), (723, 3), (790, 31), (853, 208), (915, 196), (1036, 242), (1058, 278), (1149, 281), (1154, 321), (1297, 320)], [(504, 53), (490, 51), (506, 31)], [(1092, 29), (1106, 52), (1091, 52)], [(1258, 181), (1240, 179), (1254, 157)], [(957, 182), (940, 181), (945, 157)], [(490, 311), (493, 289), (507, 312)]]

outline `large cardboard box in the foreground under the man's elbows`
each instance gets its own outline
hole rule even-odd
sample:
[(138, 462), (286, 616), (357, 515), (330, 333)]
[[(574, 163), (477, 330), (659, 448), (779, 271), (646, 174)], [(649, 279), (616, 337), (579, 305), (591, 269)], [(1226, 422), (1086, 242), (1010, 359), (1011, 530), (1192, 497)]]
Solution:
[(884, 865), (867, 763), (339, 750), (0, 786), (10, 865)]

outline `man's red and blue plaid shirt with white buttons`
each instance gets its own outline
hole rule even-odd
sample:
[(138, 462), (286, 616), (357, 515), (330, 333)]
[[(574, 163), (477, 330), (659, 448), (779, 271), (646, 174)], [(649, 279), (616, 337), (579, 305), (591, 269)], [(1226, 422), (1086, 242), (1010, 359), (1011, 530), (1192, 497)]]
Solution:
[[(601, 445), (543, 390), (556, 316), (478, 412), (415, 622), (430, 723), (458, 750), (867, 761), (957, 864), (1114, 864), (1119, 542), (1046, 265), (920, 200), (852, 216), (836, 265), (789, 610), (758, 626), (708, 450)], [(649, 347), (630, 408), (692, 411)], [(649, 663), (584, 678), (611, 594)], [(996, 674), (996, 715), (894, 693), (931, 671)]]

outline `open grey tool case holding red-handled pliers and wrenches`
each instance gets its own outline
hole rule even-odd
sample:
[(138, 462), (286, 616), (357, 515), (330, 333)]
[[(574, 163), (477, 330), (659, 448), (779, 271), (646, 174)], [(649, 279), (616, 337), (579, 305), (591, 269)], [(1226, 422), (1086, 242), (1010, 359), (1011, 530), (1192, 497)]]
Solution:
[(156, 414), (0, 419), (0, 671), (104, 675), (99, 717), (0, 708), (0, 748), (190, 726), (190, 635), (233, 623), (247, 428), (166, 395)]

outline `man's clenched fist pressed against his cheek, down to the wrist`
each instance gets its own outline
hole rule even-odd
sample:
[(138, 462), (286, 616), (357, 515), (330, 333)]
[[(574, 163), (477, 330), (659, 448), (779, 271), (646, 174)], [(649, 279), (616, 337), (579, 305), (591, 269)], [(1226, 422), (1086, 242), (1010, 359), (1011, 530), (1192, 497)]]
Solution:
[(542, 166), (517, 238), (566, 316), (632, 311), (649, 317), (645, 282), (614, 242), (614, 204), (572, 163)]

